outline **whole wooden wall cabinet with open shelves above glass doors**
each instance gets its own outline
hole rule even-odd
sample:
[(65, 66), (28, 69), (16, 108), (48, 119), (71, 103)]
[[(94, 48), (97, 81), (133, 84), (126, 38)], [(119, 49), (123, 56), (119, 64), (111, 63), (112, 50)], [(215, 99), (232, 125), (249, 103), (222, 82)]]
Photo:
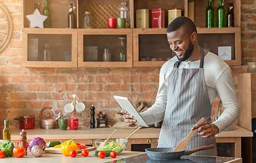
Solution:
[[(169, 49), (166, 38), (168, 9), (174, 8), (182, 9), (182, 16), (190, 16), (191, 13), (194, 15), (193, 19), (198, 26), (198, 41), (201, 47), (216, 54), (218, 47), (231, 47), (232, 57), (226, 62), (230, 66), (241, 64), (239, 0), (228, 0), (224, 4), (224, 7), (227, 7), (228, 2), (234, 4), (234, 28), (205, 28), (207, 1), (200, 0), (192, 1), (194, 7), (191, 7), (193, 5), (190, 5), (189, 0), (125, 0), (129, 7), (130, 28), (121, 29), (108, 29), (108, 18), (119, 17), (121, 6), (119, 0), (51, 0), (49, 1), (51, 28), (28, 28), (26, 15), (33, 13), (34, 4), (37, 2), (41, 4), (42, 11), (43, 0), (23, 0), (24, 55), (22, 65), (27, 67), (160, 67), (174, 55)], [(75, 12), (78, 28), (75, 29), (67, 28), (69, 3), (77, 7)], [(165, 10), (165, 28), (136, 28), (136, 10), (150, 9), (149, 24), (151, 26), (151, 9), (153, 8)], [(213, 8), (217, 8), (217, 1), (213, 1)], [(91, 12), (92, 29), (83, 29), (84, 11)], [(122, 37), (125, 38), (126, 58), (124, 62), (120, 62), (121, 40), (119, 38)], [(41, 56), (46, 41), (58, 43), (50, 45), (54, 48), (51, 49), (54, 51), (52, 53), (55, 53), (55, 58), (50, 61), (43, 60)], [(57, 45), (65, 48), (62, 49)], [(69, 49), (66, 49), (67, 47)], [(36, 52), (31, 52), (31, 49)], [(55, 52), (56, 49), (60, 51)], [(103, 62), (104, 49), (108, 49), (111, 53), (109, 62)], [(69, 55), (71, 57), (68, 57)]]

